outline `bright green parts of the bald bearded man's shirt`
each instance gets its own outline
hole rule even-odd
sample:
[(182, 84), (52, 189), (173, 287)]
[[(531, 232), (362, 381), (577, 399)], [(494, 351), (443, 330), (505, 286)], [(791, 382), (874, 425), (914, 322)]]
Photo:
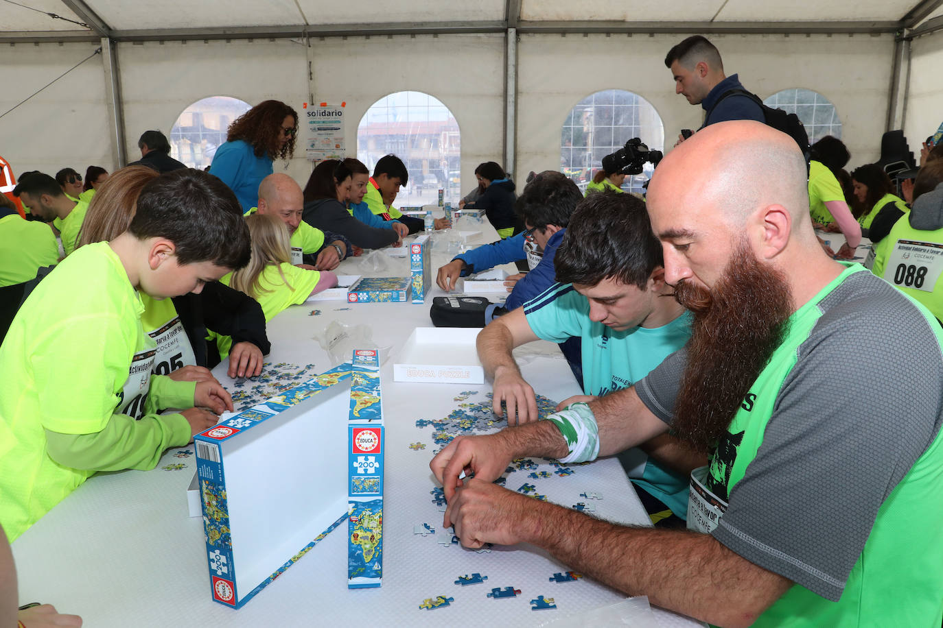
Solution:
[[(819, 302), (849, 275), (862, 271), (865, 271), (862, 266), (850, 266), (790, 316), (786, 341), (773, 352), (750, 388), (747, 397), (750, 403), (744, 401), (710, 458), (704, 486), (720, 499), (727, 499), (756, 457), (776, 397), (798, 359), (797, 349), (819, 319)], [(937, 342), (943, 343), (943, 330), (935, 321), (931, 322)], [(940, 459), (943, 437), (937, 434), (879, 508), (838, 602), (793, 585), (753, 625), (834, 628), (935, 625), (932, 620), (938, 623), (943, 607), (943, 561), (938, 560), (938, 551), (929, 550), (938, 548), (943, 536), (939, 531), (943, 526)], [(827, 518), (828, 513), (811, 516)]]

